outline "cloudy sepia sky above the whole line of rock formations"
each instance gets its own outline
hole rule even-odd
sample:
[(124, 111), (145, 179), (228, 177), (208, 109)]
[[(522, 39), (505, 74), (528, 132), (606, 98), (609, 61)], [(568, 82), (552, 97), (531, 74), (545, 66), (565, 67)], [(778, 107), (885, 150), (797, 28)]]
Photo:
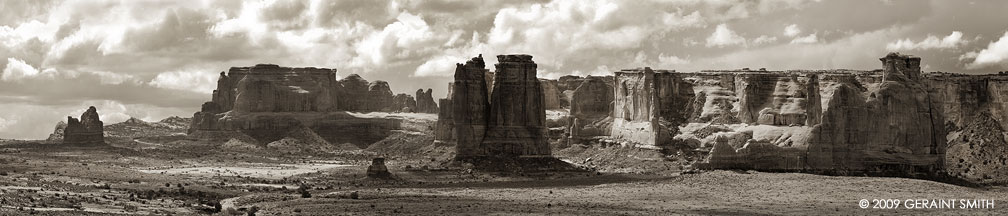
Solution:
[(435, 97), (479, 53), (530, 53), (544, 78), (876, 69), (887, 51), (925, 71), (1008, 69), (1008, 1), (994, 0), (0, 1), (3, 138), (44, 138), (92, 105), (107, 124), (188, 117), (219, 72), (259, 63)]

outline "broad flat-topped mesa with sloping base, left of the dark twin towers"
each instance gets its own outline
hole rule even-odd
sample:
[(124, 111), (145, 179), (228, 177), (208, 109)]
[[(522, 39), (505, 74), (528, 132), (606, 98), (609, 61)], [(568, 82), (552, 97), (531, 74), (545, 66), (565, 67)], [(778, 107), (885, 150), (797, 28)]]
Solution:
[(260, 144), (300, 137), (305, 143), (366, 147), (401, 124), (356, 113), (411, 112), (416, 106), (412, 96), (394, 96), (384, 81), (368, 82), (357, 75), (338, 80), (333, 69), (231, 68), (221, 73), (213, 100), (194, 114), (188, 135)]

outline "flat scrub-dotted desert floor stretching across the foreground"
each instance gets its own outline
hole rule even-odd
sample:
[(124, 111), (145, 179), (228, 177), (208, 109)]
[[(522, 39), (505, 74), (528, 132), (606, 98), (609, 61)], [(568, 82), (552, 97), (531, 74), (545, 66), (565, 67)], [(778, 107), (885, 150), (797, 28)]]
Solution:
[[(117, 139), (109, 146), (6, 141), (0, 144), (0, 215), (245, 215), (253, 208), (256, 215), (1008, 215), (1004, 187), (745, 171), (679, 173), (654, 153), (633, 149), (594, 149), (636, 158), (619, 165), (601, 161), (613, 155), (587, 159), (592, 147), (558, 151), (594, 171), (491, 174), (439, 166), (451, 152), (437, 146), (380, 153), (209, 146), (217, 145), (178, 137)], [(409, 156), (416, 153), (442, 156)], [(376, 156), (388, 158), (396, 180), (364, 177)], [(654, 167), (669, 169), (642, 172)], [(895, 209), (862, 209), (862, 199), (955, 199), (957, 208), (907, 209), (901, 203)], [(995, 205), (961, 209), (961, 199), (993, 199)]]

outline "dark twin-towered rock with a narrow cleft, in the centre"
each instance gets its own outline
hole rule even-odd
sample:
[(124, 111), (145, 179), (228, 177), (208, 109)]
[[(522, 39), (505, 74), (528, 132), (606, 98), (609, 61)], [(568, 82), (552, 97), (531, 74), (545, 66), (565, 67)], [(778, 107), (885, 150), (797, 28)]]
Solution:
[[(549, 157), (536, 65), (527, 55), (498, 56), (492, 88), (483, 57), (456, 69), (452, 104), (456, 157)], [(487, 99), (487, 92), (490, 100)]]

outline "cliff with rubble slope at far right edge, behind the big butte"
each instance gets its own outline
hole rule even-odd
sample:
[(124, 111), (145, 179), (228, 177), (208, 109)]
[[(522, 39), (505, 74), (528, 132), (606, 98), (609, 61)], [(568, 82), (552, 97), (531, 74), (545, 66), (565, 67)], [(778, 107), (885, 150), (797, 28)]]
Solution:
[(974, 183), (1008, 183), (1008, 76), (937, 74), (924, 80), (946, 117), (948, 174)]

